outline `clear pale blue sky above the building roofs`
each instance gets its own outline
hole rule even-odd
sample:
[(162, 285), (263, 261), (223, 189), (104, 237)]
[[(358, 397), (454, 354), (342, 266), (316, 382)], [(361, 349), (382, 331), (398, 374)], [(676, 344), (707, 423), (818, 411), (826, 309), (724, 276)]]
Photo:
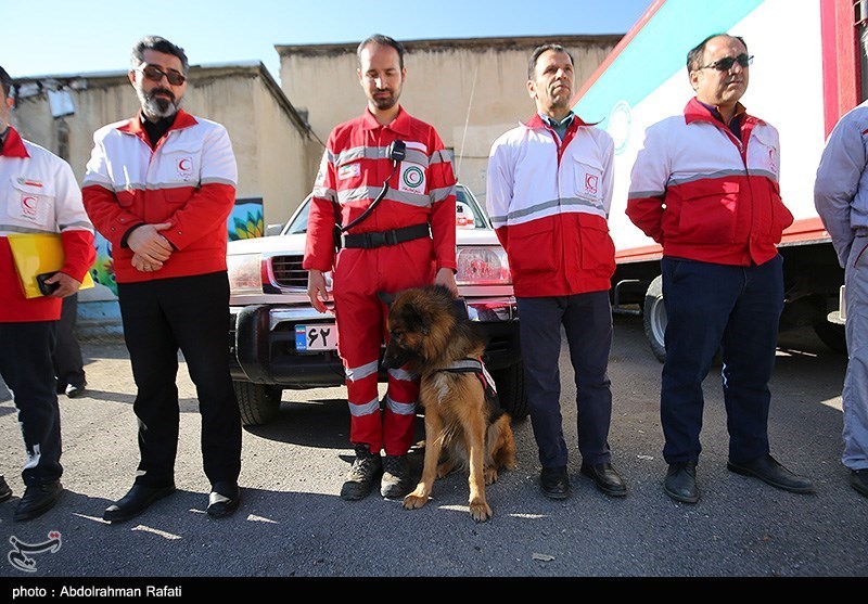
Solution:
[(280, 80), (276, 44), (626, 34), (652, 0), (0, 0), (0, 65), (15, 77), (117, 72), (146, 35), (192, 65), (261, 61)]

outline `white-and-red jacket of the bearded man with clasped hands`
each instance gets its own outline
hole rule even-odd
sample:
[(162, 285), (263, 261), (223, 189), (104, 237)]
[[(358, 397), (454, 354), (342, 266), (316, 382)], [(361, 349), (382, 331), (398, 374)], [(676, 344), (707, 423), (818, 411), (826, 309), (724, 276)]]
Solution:
[[(139, 117), (100, 128), (93, 143), (85, 207), (112, 244), (118, 283), (226, 270), (227, 219), (238, 181), (226, 128), (179, 111), (153, 149)], [(124, 235), (136, 224), (159, 222), (171, 223), (161, 234), (175, 252), (157, 271), (132, 268)]]

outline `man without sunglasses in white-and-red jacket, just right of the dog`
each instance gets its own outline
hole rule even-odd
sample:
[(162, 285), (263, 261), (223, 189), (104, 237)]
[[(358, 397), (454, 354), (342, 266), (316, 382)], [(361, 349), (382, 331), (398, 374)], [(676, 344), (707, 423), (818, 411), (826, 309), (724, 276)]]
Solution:
[(537, 113), (492, 146), (486, 205), (519, 304), (542, 493), (570, 494), (558, 370), (563, 329), (575, 371), (580, 473), (605, 494), (623, 497), (627, 487), (612, 466), (608, 440), (615, 246), (607, 219), (614, 143), (571, 111), (574, 75), (573, 57), (562, 46), (534, 50), (527, 91)]

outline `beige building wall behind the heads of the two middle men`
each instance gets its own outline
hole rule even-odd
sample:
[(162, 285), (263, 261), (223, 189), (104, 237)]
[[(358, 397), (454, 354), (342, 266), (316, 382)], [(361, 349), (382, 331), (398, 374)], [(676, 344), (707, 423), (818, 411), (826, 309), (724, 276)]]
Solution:
[[(494, 140), (536, 111), (527, 94), (527, 60), (545, 42), (562, 43), (573, 55), (576, 89), (602, 63), (621, 35), (548, 38), (417, 40), (407, 49), (401, 104), (433, 124), (455, 152), (458, 178), (485, 197), (488, 151)], [(356, 43), (277, 46), (286, 97), (307, 112), (314, 132), (359, 115), (366, 104), (358, 83)]]

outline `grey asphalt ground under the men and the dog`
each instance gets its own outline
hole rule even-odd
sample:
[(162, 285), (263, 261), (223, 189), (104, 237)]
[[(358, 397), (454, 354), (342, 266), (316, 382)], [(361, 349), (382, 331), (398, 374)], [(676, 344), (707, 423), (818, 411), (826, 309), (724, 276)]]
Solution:
[[(183, 592), (193, 596), (208, 590), (228, 595), (239, 584), (250, 594), (251, 588), (269, 584), (252, 579), (311, 579), (324, 587), (340, 586), (340, 579), (471, 578), (496, 579), (508, 589), (514, 583), (508, 579), (545, 579), (540, 587), (557, 586), (553, 579), (618, 580), (647, 594), (649, 586), (666, 589), (667, 579), (703, 579), (689, 583), (695, 596), (703, 588), (720, 593), (737, 579), (868, 576), (868, 499), (848, 486), (840, 462), (846, 358), (809, 331), (781, 336), (769, 435), (773, 454), (809, 476), (815, 494), (789, 493), (727, 471), (726, 417), (715, 367), (705, 384), (701, 500), (687, 505), (666, 497), (659, 421), (662, 365), (650, 352), (641, 320), (617, 316), (610, 358), (610, 442), (613, 463), (628, 484), (627, 497), (608, 498), (579, 475), (575, 386), (564, 347), (562, 410), (572, 496), (552, 501), (540, 493), (531, 422), (514, 422), (518, 467), (486, 490), (495, 515), (482, 524), (468, 513), (465, 475), (438, 480), (433, 500), (417, 511), (378, 493), (358, 502), (341, 500), (353, 459), (343, 388), (284, 391), (273, 423), (244, 430), (240, 510), (229, 518), (208, 517), (197, 401), (182, 364), (178, 492), (128, 523), (108, 525), (102, 513), (127, 491), (138, 462), (135, 386), (123, 343), (87, 340), (82, 349), (88, 390), (77, 399), (60, 397), (66, 492), (55, 509), (27, 523), (12, 518), (24, 490), (24, 452), (14, 404), (0, 383), (0, 468), (15, 493), (0, 504), (0, 547), (9, 543), (0, 558), (0, 592), (12, 594), (26, 586), (55, 590), (58, 596), (63, 586), (181, 586), (193, 579)], [(422, 422), (420, 415), (420, 440)], [(418, 476), (422, 455), (413, 451), (410, 459)], [(55, 532), (61, 545), (29, 554), (31, 571), (13, 564), (12, 540), (34, 545)], [(795, 583), (800, 590), (802, 584)], [(448, 590), (450, 583), (431, 586)], [(413, 592), (401, 593), (412, 597)]]

